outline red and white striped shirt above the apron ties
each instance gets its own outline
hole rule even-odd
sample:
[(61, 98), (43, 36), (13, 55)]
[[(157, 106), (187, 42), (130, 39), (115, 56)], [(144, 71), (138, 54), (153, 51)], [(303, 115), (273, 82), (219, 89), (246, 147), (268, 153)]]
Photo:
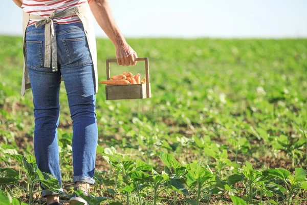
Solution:
[[(71, 9), (78, 7), (81, 4), (86, 3), (87, 0), (24, 0), (23, 1), (23, 10), (27, 13), (40, 16), (49, 16), (55, 10), (63, 11), (66, 9)], [(80, 22), (81, 20), (77, 15), (65, 16), (62, 18), (54, 18), (53, 22), (57, 24), (69, 24), (73, 22)], [(37, 21), (29, 21), (28, 26), (35, 24)]]

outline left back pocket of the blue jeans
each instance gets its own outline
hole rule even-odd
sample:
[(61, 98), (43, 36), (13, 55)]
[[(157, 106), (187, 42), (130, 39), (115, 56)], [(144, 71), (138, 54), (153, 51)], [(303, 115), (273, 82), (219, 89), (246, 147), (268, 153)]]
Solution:
[(26, 40), (27, 67), (36, 69), (43, 65), (42, 40)]

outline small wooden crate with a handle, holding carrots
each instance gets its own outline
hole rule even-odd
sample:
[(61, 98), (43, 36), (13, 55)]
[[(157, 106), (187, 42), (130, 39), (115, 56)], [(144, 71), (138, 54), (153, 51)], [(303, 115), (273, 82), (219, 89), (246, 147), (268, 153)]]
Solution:
[[(145, 61), (146, 71), (146, 84), (130, 84), (130, 85), (106, 85), (105, 86), (105, 98), (106, 100), (115, 99), (142, 99), (150, 98), (150, 83), (149, 83), (149, 64), (148, 57), (136, 58), (135, 60)], [(117, 62), (117, 59), (106, 59), (106, 78), (110, 79), (110, 66), (109, 63)]]

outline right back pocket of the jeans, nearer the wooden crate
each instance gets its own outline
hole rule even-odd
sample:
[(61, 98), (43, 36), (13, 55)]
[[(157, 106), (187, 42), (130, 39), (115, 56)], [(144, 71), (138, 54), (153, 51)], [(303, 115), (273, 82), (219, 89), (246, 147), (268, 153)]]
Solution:
[(70, 64), (77, 66), (92, 63), (92, 57), (86, 37), (62, 40)]

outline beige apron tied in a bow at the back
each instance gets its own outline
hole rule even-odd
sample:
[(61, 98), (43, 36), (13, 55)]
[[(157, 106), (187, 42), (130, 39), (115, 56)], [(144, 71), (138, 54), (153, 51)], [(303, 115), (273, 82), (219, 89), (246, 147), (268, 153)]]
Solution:
[[(27, 29), (30, 18), (35, 19), (34, 15), (26, 13), (25, 11), (23, 12), (24, 12), (24, 16), (23, 16), (24, 71), (23, 71), (23, 79), (21, 81), (21, 95), (25, 95), (25, 90), (31, 88), (29, 71), (28, 71), (27, 64), (26, 64), (27, 55), (26, 55), (25, 35), (26, 35), (26, 29)], [(94, 74), (95, 74), (94, 87), (95, 87), (95, 94), (97, 94), (97, 91), (98, 91), (97, 51), (96, 51), (96, 39), (95, 39), (94, 26), (90, 19), (90, 16), (91, 16), (90, 6), (88, 3), (84, 3), (79, 7), (70, 9), (69, 12), (73, 12), (77, 14), (83, 24), (84, 32), (86, 35), (87, 43), (89, 44), (89, 49), (91, 52), (93, 65), (94, 65)], [(67, 14), (67, 12), (65, 11), (60, 12), (60, 13)], [(52, 18), (61, 17), (61, 14), (58, 15), (58, 13), (53, 13), (50, 15), (50, 17), (48, 16), (46, 18), (40, 17), (40, 16), (36, 16), (36, 17), (40, 22), (40, 23), (39, 22), (36, 23), (38, 24), (38, 26), (41, 24), (46, 25), (46, 28), (45, 28), (45, 67), (50, 67), (52, 65), (52, 71), (57, 71), (56, 49), (51, 49), (51, 48), (56, 48), (56, 43), (54, 44), (54, 40), (56, 42), (56, 35), (53, 30), (54, 28), (53, 28)], [(52, 50), (52, 53), (50, 52), (51, 50)], [(51, 62), (53, 63), (51, 64)]]

